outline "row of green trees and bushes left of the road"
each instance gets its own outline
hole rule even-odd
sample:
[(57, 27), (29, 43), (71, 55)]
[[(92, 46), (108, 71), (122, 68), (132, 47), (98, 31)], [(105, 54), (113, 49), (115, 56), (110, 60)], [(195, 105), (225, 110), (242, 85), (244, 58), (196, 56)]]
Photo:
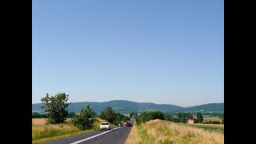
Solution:
[(68, 103), (68, 94), (58, 93), (54, 96), (42, 98), (41, 108), (45, 110), (46, 114), (39, 114), (38, 112), (32, 113), (32, 118), (46, 118), (46, 124), (60, 124), (66, 122), (66, 118), (72, 118), (71, 123), (82, 130), (88, 130), (94, 127), (94, 122), (97, 122), (97, 118), (102, 118), (106, 122), (118, 125), (120, 121), (128, 121), (129, 117), (123, 114), (115, 113), (112, 107), (106, 107), (106, 110), (97, 114), (90, 108), (89, 105), (82, 108), (78, 113), (69, 112), (67, 107), (71, 104)]

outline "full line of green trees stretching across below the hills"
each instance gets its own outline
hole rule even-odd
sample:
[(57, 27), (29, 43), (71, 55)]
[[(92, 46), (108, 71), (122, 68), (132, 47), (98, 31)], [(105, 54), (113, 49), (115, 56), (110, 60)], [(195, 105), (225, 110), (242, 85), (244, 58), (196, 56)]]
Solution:
[[(102, 111), (100, 114), (97, 114), (90, 108), (89, 105), (86, 106), (86, 109), (81, 109), (80, 112), (75, 114), (74, 112), (69, 112), (67, 107), (71, 104), (68, 103), (68, 94), (58, 93), (54, 96), (49, 96), (46, 94), (46, 97), (42, 98), (42, 106), (41, 108), (45, 110), (46, 114), (39, 114), (38, 112), (32, 113), (32, 118), (47, 118), (47, 122), (51, 124), (59, 124), (66, 120), (66, 118), (73, 118), (74, 121), (84, 118), (86, 120), (90, 120), (91, 118), (102, 118), (107, 122), (114, 123), (118, 125), (120, 121), (127, 121), (130, 118), (120, 114), (115, 113), (112, 107), (106, 107), (106, 110)], [(90, 115), (90, 116), (88, 116)], [(150, 112), (142, 112), (138, 114), (136, 112), (130, 113), (130, 117), (135, 115), (136, 121), (147, 122), (152, 119), (162, 119), (171, 122), (183, 122), (186, 123), (188, 119), (193, 118), (194, 122), (202, 122), (202, 113), (197, 113), (197, 118), (194, 118), (193, 115), (189, 112), (179, 112), (179, 113), (162, 113), (162, 111), (150, 111)], [(218, 116), (222, 118), (222, 123), (224, 123), (224, 113), (210, 113), (210, 116)], [(220, 122), (210, 122), (210, 123), (220, 123)]]

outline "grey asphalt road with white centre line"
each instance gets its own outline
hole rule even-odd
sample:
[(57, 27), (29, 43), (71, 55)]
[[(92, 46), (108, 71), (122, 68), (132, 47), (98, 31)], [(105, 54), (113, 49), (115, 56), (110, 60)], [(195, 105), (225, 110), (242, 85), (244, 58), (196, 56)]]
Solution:
[[(134, 118), (131, 118), (132, 125), (134, 124)], [(115, 126), (111, 127), (110, 130), (94, 130), (90, 133), (79, 134), (68, 138), (62, 138), (51, 142), (44, 142), (45, 144), (124, 144), (126, 138), (130, 133), (132, 126)]]

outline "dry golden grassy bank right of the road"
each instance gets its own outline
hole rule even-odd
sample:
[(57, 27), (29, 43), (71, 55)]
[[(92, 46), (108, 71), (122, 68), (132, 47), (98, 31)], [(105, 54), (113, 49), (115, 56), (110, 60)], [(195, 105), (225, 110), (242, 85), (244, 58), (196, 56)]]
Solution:
[(126, 144), (153, 143), (224, 143), (224, 134), (174, 122), (151, 120), (141, 126), (134, 125)]

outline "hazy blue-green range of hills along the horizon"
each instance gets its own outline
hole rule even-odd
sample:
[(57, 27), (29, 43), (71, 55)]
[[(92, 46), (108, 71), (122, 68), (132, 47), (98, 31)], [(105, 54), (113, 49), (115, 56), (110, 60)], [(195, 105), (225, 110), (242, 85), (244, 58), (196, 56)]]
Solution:
[[(90, 105), (90, 108), (94, 110), (96, 113), (100, 113), (106, 109), (106, 107), (110, 106), (117, 113), (130, 113), (130, 112), (145, 112), (151, 110), (159, 110), (162, 112), (178, 112), (178, 111), (203, 111), (203, 112), (222, 112), (224, 111), (224, 103), (210, 103), (201, 106), (193, 106), (193, 107), (182, 107), (182, 106), (174, 106), (169, 104), (155, 104), (150, 102), (130, 102), (126, 100), (114, 100), (109, 102), (72, 102), (70, 106), (68, 106), (69, 111), (74, 111), (77, 113), (82, 108), (85, 108), (86, 105)], [(41, 103), (32, 104), (32, 112), (37, 111), (40, 114), (44, 113), (44, 110), (41, 109)]]

